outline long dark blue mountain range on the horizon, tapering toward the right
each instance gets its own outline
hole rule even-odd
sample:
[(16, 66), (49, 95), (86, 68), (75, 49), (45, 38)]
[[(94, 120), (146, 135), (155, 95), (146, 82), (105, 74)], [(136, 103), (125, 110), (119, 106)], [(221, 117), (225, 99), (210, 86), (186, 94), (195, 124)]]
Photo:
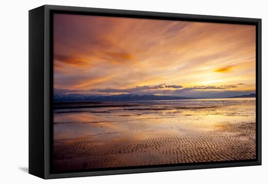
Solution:
[(181, 96), (157, 96), (157, 95), (137, 95), (118, 94), (110, 96), (84, 95), (84, 94), (55, 94), (55, 102), (123, 102), (123, 101), (150, 101), (150, 100), (185, 100), (194, 99)]

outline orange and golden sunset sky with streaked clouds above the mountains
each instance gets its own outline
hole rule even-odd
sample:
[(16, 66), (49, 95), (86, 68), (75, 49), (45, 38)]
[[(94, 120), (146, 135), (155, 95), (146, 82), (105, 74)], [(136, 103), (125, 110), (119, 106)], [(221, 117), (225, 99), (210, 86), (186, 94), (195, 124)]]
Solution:
[(54, 93), (255, 93), (255, 26), (54, 14)]

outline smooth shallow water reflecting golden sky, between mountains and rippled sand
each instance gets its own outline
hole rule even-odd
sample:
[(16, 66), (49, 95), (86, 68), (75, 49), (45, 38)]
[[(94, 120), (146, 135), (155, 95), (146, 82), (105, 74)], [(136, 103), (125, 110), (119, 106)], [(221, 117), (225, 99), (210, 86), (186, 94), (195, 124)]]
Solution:
[[(124, 106), (130, 104), (134, 106)], [(109, 105), (115, 107), (106, 107)], [(139, 139), (190, 132), (198, 134), (213, 129), (213, 125), (222, 121), (255, 121), (255, 98), (104, 102), (99, 106), (102, 107), (54, 110), (54, 138), (73, 139), (124, 132), (107, 136), (109, 139), (118, 139), (117, 136)]]

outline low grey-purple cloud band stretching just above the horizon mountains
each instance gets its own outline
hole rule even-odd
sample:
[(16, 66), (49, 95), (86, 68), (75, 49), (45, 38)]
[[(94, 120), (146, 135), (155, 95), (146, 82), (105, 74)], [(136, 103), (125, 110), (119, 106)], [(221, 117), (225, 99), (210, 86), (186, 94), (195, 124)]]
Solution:
[[(133, 88), (128, 89), (92, 89), (89, 91), (82, 91), (83, 94), (87, 95), (115, 95), (115, 94), (154, 94), (154, 95), (169, 95), (169, 96), (186, 96), (186, 97), (196, 97), (196, 98), (204, 98), (204, 97), (230, 97), (234, 95), (243, 95), (254, 93), (253, 90), (242, 90), (236, 91), (237, 85), (224, 85), (224, 86), (192, 86), (192, 87), (181, 87), (181, 88), (170, 88), (166, 86), (177, 86), (177, 85), (165, 85), (160, 84), (156, 86), (135, 86)], [(81, 93), (81, 91), (68, 91), (57, 89), (57, 92), (61, 92), (62, 94), (69, 93)]]

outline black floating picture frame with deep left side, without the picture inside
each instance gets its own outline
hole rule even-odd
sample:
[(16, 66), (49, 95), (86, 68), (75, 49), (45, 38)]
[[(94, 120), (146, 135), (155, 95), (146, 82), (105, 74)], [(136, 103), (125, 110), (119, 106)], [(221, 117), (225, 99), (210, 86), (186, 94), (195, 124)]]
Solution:
[[(256, 26), (256, 159), (135, 166), (55, 173), (53, 141), (53, 13), (249, 24)], [(43, 179), (261, 165), (261, 19), (43, 5), (29, 11), (29, 173)]]

